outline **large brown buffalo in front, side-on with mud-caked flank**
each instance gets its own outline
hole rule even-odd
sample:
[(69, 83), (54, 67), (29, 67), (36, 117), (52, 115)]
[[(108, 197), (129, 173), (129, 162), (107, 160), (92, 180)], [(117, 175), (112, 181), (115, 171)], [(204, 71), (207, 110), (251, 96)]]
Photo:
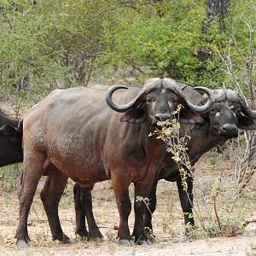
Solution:
[[(184, 107), (182, 122), (201, 123), (203, 119), (197, 113), (207, 111), (214, 101), (212, 91), (205, 88), (207, 103), (193, 105), (172, 79), (149, 79), (143, 88), (119, 89), (127, 88), (114, 86), (108, 90), (108, 105), (104, 90), (55, 90), (24, 116), (18, 245), (30, 243), (27, 216), (42, 175), (48, 175), (41, 198), (54, 239), (70, 241), (61, 230), (58, 216), (67, 177), (79, 183), (81, 189), (92, 189), (96, 182), (111, 178), (119, 209), (119, 241), (131, 245), (128, 187), (134, 183), (135, 195), (148, 197), (166, 150), (163, 142), (148, 137), (149, 132), (154, 131), (158, 120), (173, 119), (172, 113), (180, 103)], [(112, 99), (116, 90), (119, 103)], [(136, 201), (133, 236), (139, 243), (147, 241), (144, 210), (143, 202)]]

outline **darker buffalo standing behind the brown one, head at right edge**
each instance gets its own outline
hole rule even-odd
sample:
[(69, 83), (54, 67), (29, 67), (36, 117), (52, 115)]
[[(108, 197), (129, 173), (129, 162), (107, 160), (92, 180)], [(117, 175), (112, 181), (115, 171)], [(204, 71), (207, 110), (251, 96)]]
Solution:
[[(199, 103), (202, 100), (201, 94), (192, 90), (192, 87), (180, 84), (183, 93), (189, 98), (190, 102)], [(200, 125), (181, 125), (180, 136), (189, 135), (191, 139), (188, 143), (188, 155), (192, 166), (195, 165), (201, 155), (214, 148), (219, 143), (238, 136), (238, 128), (245, 130), (256, 129), (253, 119), (256, 119), (256, 112), (247, 108), (247, 104), (243, 96), (234, 90), (213, 90), (215, 102), (207, 113), (201, 116), (205, 122)], [(163, 160), (163, 166), (155, 176), (154, 184), (149, 196), (149, 210), (154, 212), (156, 207), (156, 186), (159, 179), (165, 178), (167, 181), (176, 181), (181, 206), (184, 213), (185, 224), (194, 225), (193, 218), (193, 177), (187, 177), (188, 189), (183, 190), (182, 179), (177, 164), (172, 160), (172, 154), (166, 153)], [(83, 203), (84, 200), (84, 203)], [(76, 233), (79, 236), (90, 236), (85, 227), (85, 216), (88, 220), (89, 233), (97, 234), (98, 227), (90, 224), (93, 222), (92, 212), (90, 215), (88, 208), (91, 207), (90, 189), (81, 190), (78, 184), (74, 185), (74, 202), (76, 211)], [(86, 203), (85, 203), (86, 202)], [(145, 212), (144, 222), (147, 236), (154, 239), (152, 230), (152, 215), (149, 211)]]

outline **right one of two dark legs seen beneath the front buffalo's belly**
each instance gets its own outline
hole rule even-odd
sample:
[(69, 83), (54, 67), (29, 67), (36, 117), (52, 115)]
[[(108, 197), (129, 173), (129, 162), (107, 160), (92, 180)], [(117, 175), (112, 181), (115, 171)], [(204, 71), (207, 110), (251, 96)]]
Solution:
[[(93, 188), (93, 187), (92, 187)], [(84, 188), (83, 186), (79, 186), (80, 189), (80, 202), (85, 213), (88, 229), (89, 229), (89, 238), (91, 240), (102, 240), (102, 233), (99, 230), (93, 212), (92, 212), (92, 199), (91, 199), (91, 190), (92, 188)]]

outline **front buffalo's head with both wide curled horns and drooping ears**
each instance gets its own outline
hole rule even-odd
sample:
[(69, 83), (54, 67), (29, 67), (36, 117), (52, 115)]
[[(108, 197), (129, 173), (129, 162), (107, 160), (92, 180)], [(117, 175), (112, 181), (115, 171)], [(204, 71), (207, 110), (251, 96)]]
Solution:
[(208, 100), (203, 106), (193, 105), (184, 96), (177, 82), (172, 79), (148, 79), (138, 95), (125, 105), (113, 102), (113, 92), (119, 89), (127, 89), (127, 87), (120, 85), (111, 87), (106, 95), (106, 101), (113, 110), (125, 113), (120, 119), (121, 121), (133, 124), (142, 124), (148, 120), (151, 125), (156, 125), (160, 120), (173, 119), (173, 111), (177, 109), (179, 104), (184, 107), (179, 113), (181, 123), (202, 123), (204, 119), (198, 113), (206, 112), (214, 102), (211, 90), (198, 87), (195, 90), (204, 90), (207, 93)]

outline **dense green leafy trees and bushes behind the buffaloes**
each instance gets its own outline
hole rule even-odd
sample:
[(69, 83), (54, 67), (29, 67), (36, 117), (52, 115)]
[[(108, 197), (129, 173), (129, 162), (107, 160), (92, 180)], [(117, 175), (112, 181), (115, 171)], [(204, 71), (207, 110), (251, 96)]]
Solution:
[(253, 100), (255, 6), (231, 0), (227, 18), (209, 21), (206, 0), (2, 0), (0, 100), (152, 76), (236, 86)]

